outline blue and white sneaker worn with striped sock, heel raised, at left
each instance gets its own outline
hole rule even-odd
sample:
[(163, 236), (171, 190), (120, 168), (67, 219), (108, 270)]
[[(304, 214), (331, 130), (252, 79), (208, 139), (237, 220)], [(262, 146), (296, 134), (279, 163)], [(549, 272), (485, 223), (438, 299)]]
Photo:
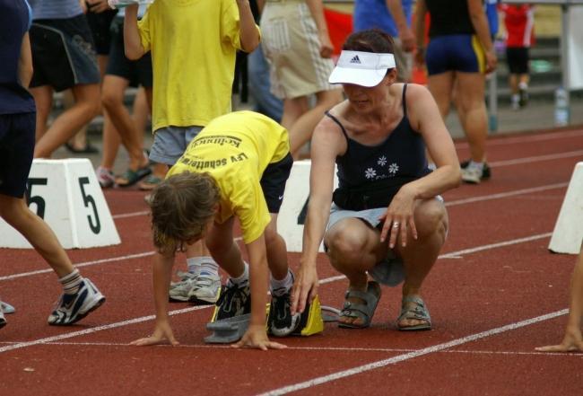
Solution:
[(88, 278), (83, 278), (79, 291), (74, 295), (61, 295), (57, 308), (48, 316), (48, 324), (67, 326), (82, 320), (89, 312), (105, 302), (105, 297)]

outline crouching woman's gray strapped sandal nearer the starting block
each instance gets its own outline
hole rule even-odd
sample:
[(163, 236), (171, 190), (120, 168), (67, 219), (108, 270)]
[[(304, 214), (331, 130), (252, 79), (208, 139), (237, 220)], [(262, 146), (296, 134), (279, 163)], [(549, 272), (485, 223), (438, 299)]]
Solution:
[[(360, 319), (361, 323), (355, 324), (338, 321), (338, 327), (344, 329), (365, 329), (369, 327), (370, 321), (372, 321), (372, 317), (377, 309), (377, 304), (379, 304), (380, 295), (380, 286), (375, 281), (369, 282), (366, 292), (347, 290), (346, 295), (344, 295), (344, 306), (340, 312), (339, 319)], [(348, 301), (349, 298), (358, 298), (362, 300), (362, 303), (352, 303)]]

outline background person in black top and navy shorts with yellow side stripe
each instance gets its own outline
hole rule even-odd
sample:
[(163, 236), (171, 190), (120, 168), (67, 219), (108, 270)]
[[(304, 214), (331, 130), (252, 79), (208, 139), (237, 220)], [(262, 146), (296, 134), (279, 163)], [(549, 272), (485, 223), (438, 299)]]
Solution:
[[(425, 14), (430, 13), (430, 42), (423, 48)], [(497, 57), (481, 0), (419, 0), (417, 2), (416, 62), (427, 64), (428, 83), (441, 116), (448, 115), (452, 94), (461, 108), (460, 122), (470, 145), (471, 160), (462, 180), (483, 180), (488, 117), (484, 102), (485, 74)]]

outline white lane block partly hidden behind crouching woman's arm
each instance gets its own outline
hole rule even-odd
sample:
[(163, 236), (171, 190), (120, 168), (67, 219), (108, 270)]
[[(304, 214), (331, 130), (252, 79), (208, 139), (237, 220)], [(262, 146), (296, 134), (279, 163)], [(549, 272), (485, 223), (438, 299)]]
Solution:
[[(283, 203), (277, 216), (277, 231), (283, 236), (287, 251), (301, 251), (302, 237), (309, 198), (311, 161), (295, 161), (285, 185)], [(338, 186), (336, 175), (334, 187)], [(324, 251), (323, 244), (320, 251)]]

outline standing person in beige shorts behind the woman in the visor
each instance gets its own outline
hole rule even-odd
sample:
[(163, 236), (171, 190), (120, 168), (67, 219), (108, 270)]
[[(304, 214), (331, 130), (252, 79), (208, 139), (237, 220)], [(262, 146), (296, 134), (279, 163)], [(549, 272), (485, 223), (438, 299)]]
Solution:
[[(322, 0), (258, 3), (271, 91), (283, 99), (282, 125), (290, 132), (290, 151), (297, 159), (324, 111), (342, 100), (342, 92), (327, 82), (334, 62)], [(310, 108), (311, 95), (316, 103)]]

